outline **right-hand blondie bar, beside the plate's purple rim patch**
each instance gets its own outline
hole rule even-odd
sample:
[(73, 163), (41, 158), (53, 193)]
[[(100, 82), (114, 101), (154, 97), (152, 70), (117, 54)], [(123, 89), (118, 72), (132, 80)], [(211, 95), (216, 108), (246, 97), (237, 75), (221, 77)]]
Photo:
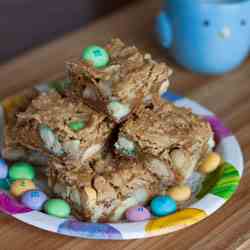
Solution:
[(121, 127), (115, 151), (145, 161), (156, 175), (172, 171), (185, 182), (214, 147), (208, 122), (168, 102), (140, 106)]

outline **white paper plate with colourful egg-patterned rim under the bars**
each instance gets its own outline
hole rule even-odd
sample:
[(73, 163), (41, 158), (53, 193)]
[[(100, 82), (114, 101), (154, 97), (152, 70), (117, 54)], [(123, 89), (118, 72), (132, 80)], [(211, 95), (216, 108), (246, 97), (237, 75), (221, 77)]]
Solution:
[[(38, 89), (46, 91), (48, 85), (40, 85)], [(73, 217), (59, 219), (43, 212), (32, 211), (12, 198), (6, 191), (0, 190), (0, 211), (51, 232), (91, 239), (135, 239), (167, 234), (195, 224), (214, 213), (231, 198), (239, 185), (244, 167), (240, 146), (230, 131), (206, 108), (172, 92), (167, 92), (164, 98), (174, 102), (177, 106), (191, 108), (194, 113), (205, 117), (210, 122), (217, 142), (216, 151), (222, 155), (225, 161), (215, 172), (207, 175), (202, 182), (200, 174), (194, 173), (189, 180), (195, 193), (191, 204), (180, 208), (172, 215), (138, 223), (85, 223)], [(18, 103), (19, 99), (7, 99), (7, 103), (13, 106)], [(2, 132), (4, 112), (2, 108), (0, 111)], [(2, 138), (0, 140), (2, 141)]]

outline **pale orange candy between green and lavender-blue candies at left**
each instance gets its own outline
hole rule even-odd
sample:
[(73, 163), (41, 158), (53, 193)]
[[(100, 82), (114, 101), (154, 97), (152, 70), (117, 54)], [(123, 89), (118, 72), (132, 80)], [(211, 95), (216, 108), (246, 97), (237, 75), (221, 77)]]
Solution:
[(35, 184), (31, 180), (16, 180), (10, 186), (10, 193), (13, 196), (20, 197), (23, 193), (36, 189)]

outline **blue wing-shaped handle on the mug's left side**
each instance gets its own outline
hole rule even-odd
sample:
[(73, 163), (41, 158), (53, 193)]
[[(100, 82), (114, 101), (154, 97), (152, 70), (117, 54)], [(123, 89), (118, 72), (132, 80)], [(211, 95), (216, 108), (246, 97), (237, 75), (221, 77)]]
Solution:
[(165, 12), (166, 10), (161, 10), (156, 18), (156, 32), (162, 46), (169, 49), (172, 45), (172, 29), (169, 17)]

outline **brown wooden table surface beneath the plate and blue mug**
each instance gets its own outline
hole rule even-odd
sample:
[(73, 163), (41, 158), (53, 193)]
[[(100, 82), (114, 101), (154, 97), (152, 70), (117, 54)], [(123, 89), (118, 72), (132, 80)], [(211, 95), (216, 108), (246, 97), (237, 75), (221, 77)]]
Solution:
[(145, 240), (93, 241), (56, 235), (0, 215), (0, 249), (250, 249), (250, 59), (238, 70), (218, 77), (192, 74), (167, 59), (155, 41), (158, 0), (137, 1), (90, 26), (35, 49), (0, 66), (0, 97), (41, 81), (61, 77), (64, 61), (79, 56), (83, 47), (120, 37), (147, 50), (174, 69), (171, 90), (210, 110), (237, 136), (245, 157), (245, 172), (233, 198), (215, 214), (187, 229)]

